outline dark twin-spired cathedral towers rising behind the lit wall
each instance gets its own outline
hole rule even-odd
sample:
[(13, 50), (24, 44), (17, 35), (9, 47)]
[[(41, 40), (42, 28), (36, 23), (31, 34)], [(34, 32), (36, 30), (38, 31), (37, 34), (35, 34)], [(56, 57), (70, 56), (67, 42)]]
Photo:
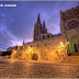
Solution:
[(34, 38), (33, 41), (41, 41), (41, 40), (46, 40), (52, 37), (50, 33), (47, 33), (47, 29), (45, 26), (45, 20), (43, 22), (43, 24), (41, 24), (41, 19), (40, 19), (40, 13), (37, 16), (37, 22), (34, 26)]

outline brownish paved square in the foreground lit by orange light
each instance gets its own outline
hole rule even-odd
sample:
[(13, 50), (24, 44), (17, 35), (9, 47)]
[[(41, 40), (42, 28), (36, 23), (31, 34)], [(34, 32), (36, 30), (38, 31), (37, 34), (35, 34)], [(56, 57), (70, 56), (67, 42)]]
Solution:
[(79, 78), (79, 65), (0, 60), (0, 78)]

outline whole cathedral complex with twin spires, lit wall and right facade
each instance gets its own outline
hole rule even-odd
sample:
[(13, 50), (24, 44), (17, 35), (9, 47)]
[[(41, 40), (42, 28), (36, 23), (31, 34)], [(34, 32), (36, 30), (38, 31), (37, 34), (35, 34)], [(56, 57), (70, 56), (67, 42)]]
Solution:
[(60, 10), (60, 34), (47, 32), (40, 14), (34, 26), (33, 42), (24, 43), (12, 52), (12, 59), (61, 61), (69, 53), (79, 53), (79, 5)]

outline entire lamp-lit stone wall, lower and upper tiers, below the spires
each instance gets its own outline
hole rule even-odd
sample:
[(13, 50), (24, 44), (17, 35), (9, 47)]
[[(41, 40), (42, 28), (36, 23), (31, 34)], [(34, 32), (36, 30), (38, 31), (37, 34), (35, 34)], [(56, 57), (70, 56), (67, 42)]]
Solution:
[(67, 57), (66, 41), (64, 36), (24, 44), (13, 50), (11, 58), (21, 60), (61, 61)]

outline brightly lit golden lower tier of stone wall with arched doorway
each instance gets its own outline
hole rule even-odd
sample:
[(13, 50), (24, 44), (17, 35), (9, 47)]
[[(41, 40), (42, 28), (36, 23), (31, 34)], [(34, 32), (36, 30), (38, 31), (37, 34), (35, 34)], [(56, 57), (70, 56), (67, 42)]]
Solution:
[(30, 47), (23, 50), (13, 50), (11, 58), (21, 60), (61, 61), (67, 57), (66, 47)]

